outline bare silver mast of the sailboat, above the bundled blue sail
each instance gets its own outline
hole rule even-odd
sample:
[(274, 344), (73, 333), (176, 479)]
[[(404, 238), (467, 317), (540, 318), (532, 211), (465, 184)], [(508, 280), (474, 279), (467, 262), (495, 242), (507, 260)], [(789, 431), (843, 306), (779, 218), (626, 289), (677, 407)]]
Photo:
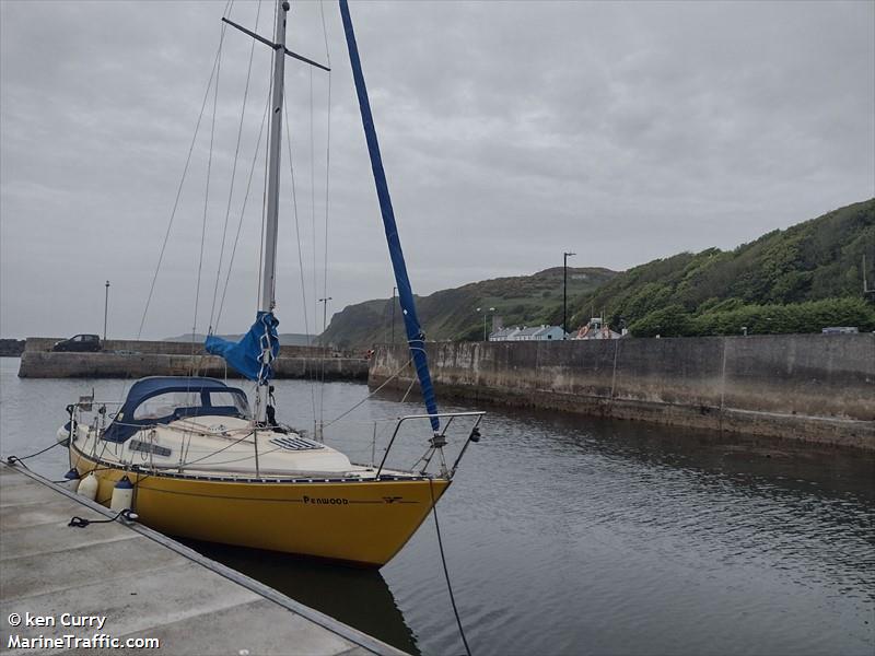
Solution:
[(289, 2), (277, 0), (277, 25), (273, 33), (273, 82), (271, 84), (270, 126), (268, 129), (267, 219), (265, 224), (264, 270), (260, 312), (272, 312), (277, 300), (277, 226), (280, 204), (280, 143), (282, 139), (282, 96), (285, 72), (285, 14)]

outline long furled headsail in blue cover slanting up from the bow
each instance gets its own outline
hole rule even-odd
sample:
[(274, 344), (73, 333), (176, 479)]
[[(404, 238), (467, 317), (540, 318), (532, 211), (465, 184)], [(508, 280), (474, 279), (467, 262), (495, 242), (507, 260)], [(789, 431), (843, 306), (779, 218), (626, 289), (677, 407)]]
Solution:
[[(380, 210), (383, 214), (383, 226), (386, 230), (392, 268), (395, 271), (395, 281), (398, 286), (398, 301), (401, 305), (401, 316), (404, 316), (404, 325), (407, 329), (407, 343), (410, 345), (410, 354), (413, 359), (417, 376), (419, 376), (419, 386), (422, 389), (425, 410), (429, 414), (434, 415), (438, 413), (438, 403), (434, 400), (434, 388), (431, 384), (429, 362), (425, 356), (425, 336), (419, 325), (417, 308), (413, 303), (413, 291), (410, 288), (410, 279), (407, 277), (407, 265), (405, 265), (401, 242), (398, 238), (398, 226), (395, 224), (395, 212), (392, 209), (389, 187), (386, 184), (386, 174), (383, 171), (383, 159), (380, 156), (380, 143), (376, 139), (374, 117), (371, 115), (371, 102), (368, 99), (368, 87), (364, 85), (359, 46), (355, 44), (355, 33), (352, 31), (352, 19), (349, 14), (347, 0), (340, 0), (340, 15), (343, 19), (343, 32), (347, 35), (349, 60), (352, 65), (352, 77), (355, 80), (355, 93), (359, 96), (359, 109), (362, 114), (364, 136), (368, 140), (368, 152), (371, 155), (371, 168), (374, 172), (374, 184), (380, 199)], [(435, 432), (440, 430), (441, 424), (436, 417), (431, 418), (431, 427)]]

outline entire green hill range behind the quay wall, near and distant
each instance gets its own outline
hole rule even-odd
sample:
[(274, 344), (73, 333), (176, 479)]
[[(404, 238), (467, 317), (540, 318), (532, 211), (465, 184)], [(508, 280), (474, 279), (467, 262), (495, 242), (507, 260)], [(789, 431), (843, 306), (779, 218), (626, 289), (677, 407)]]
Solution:
[[(875, 199), (840, 208), (733, 250), (680, 253), (617, 273), (569, 269), (569, 327), (605, 313), (632, 335), (819, 332), (825, 326), (875, 329), (875, 306), (863, 298), (863, 255), (875, 286)], [(871, 301), (875, 301), (872, 296)], [(417, 298), (430, 340), (481, 340), (494, 307), (505, 326), (562, 321), (562, 268), (498, 278)], [(323, 339), (339, 347), (390, 340), (392, 301), (350, 305)], [(404, 340), (396, 307), (395, 340)]]

